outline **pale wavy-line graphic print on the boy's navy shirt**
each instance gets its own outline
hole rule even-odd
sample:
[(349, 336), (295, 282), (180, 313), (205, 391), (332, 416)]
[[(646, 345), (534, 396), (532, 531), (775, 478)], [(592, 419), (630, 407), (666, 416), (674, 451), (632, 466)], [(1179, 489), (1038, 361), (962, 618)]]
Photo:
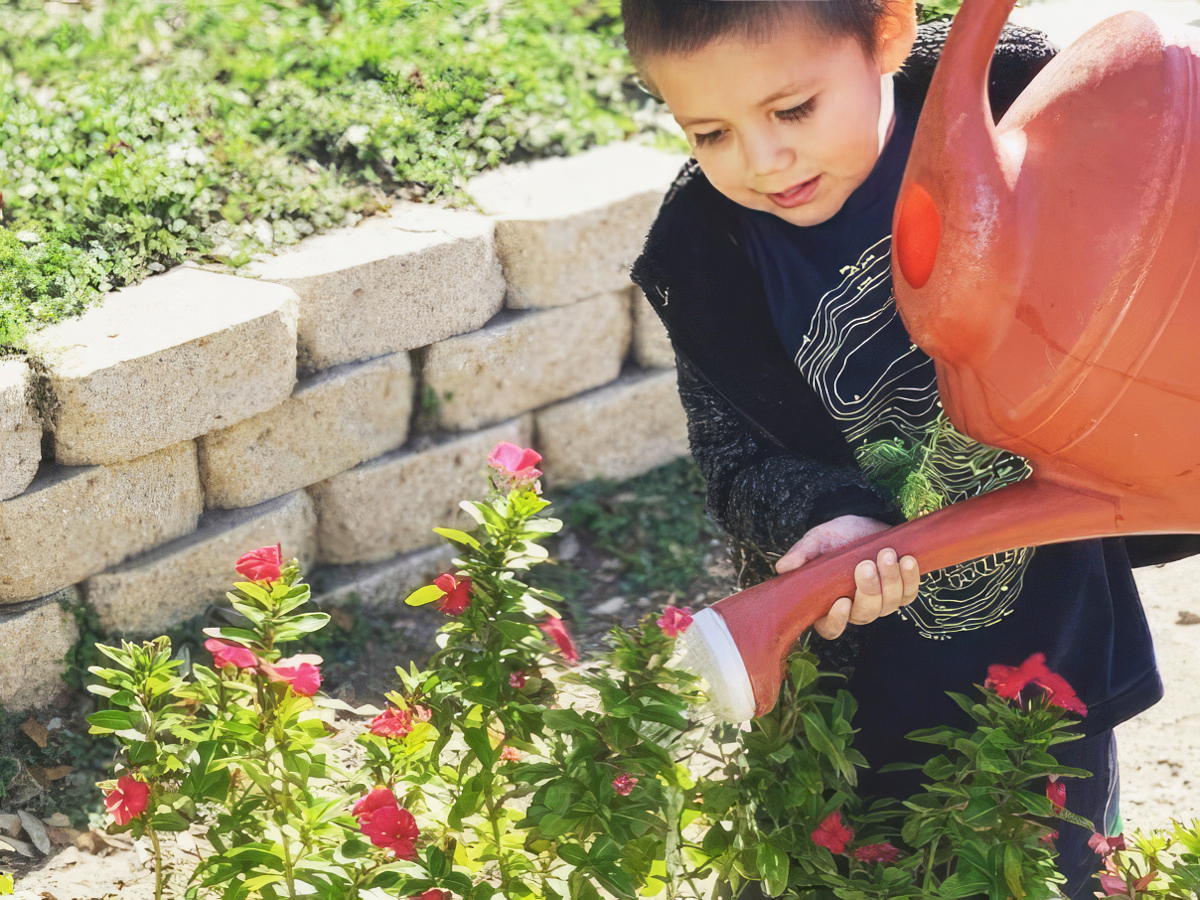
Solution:
[[(946, 421), (934, 361), (908, 338), (896, 311), (890, 264), (888, 236), (841, 270), (841, 283), (817, 302), (796, 365), (859, 462), (871, 445), (895, 442), (920, 461), (920, 476), (946, 503), (1026, 478), (1025, 460)], [(922, 575), (917, 599), (898, 614), (935, 640), (986, 628), (1012, 610), (1032, 558), (1026, 547)]]

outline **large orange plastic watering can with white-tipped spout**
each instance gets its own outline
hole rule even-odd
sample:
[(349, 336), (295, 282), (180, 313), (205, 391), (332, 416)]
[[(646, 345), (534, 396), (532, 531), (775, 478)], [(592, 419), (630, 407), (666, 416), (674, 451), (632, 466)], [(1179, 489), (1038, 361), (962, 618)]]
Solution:
[(1058, 54), (1000, 125), (1014, 0), (966, 0), (893, 222), (896, 305), (950, 421), (1032, 476), (726, 598), (685, 632), (731, 721), (884, 547), (922, 572), (1016, 547), (1200, 532), (1200, 30), (1142, 13)]

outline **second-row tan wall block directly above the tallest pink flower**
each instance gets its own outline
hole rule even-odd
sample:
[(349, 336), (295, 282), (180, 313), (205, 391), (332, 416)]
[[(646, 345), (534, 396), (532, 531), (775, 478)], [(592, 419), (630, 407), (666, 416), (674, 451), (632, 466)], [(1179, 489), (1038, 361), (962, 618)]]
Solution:
[(438, 424), (466, 431), (614, 379), (629, 349), (629, 292), (557, 310), (508, 313), (428, 348), (426, 388)]

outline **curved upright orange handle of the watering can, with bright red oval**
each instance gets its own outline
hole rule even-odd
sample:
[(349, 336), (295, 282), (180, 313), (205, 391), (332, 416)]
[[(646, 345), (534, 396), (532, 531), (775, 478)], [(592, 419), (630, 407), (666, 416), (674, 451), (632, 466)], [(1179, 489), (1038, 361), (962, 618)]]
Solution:
[[(988, 100), (992, 53), (1013, 6), (964, 2), (929, 88), (893, 223), (893, 269), (912, 295), (901, 317), (916, 343), (952, 366), (990, 354), (1016, 307), (1015, 295), (997, 286), (1012, 283), (1018, 264), (1020, 154), (1001, 139)], [(964, 300), (972, 295), (976, 302)]]

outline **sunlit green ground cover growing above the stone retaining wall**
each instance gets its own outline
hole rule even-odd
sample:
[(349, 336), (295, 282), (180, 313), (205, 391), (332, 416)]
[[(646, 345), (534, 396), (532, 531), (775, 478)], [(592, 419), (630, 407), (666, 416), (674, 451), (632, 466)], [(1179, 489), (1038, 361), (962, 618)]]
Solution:
[[(0, 353), (193, 258), (644, 133), (618, 0), (0, 5)], [(674, 137), (676, 149), (682, 138)], [(23, 235), (23, 236), (22, 236)], [(68, 275), (70, 274), (70, 277)]]

